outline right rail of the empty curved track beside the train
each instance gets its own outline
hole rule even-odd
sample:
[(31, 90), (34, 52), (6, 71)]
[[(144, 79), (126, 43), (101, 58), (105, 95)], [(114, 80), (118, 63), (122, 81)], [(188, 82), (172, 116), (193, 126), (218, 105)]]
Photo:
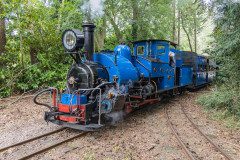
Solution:
[(192, 121), (192, 119), (187, 115), (184, 107), (180, 104), (181, 110), (183, 114), (187, 117), (187, 119), (191, 122), (192, 126), (204, 137), (210, 142), (226, 159), (232, 160), (232, 158), (224, 151), (222, 150), (217, 144), (215, 144), (205, 133), (203, 133), (196, 124)]

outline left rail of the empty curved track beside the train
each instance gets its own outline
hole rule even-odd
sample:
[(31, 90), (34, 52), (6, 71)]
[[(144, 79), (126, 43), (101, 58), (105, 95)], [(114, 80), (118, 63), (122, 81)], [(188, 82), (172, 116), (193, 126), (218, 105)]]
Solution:
[(195, 158), (193, 157), (192, 153), (187, 149), (186, 145), (183, 143), (183, 141), (179, 137), (177, 130), (173, 126), (172, 122), (170, 121), (170, 117), (168, 115), (168, 111), (167, 111), (166, 107), (165, 107), (165, 114), (166, 114), (166, 117), (167, 117), (168, 125), (170, 126), (172, 132), (174, 133), (176, 139), (178, 140), (178, 142), (181, 145), (182, 149), (184, 150), (185, 154), (188, 156), (189, 159), (195, 160)]

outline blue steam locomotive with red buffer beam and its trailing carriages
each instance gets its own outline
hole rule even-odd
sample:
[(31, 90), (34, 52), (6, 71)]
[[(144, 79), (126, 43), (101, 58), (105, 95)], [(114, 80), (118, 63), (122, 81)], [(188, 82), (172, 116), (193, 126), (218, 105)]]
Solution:
[[(84, 23), (83, 33), (66, 30), (62, 43), (74, 63), (67, 74), (66, 90), (49, 88), (34, 102), (49, 108), (45, 120), (79, 130), (111, 124), (165, 95), (204, 86), (215, 77), (215, 64), (204, 56), (181, 51), (166, 40), (133, 42), (114, 51), (94, 53), (94, 24)], [(52, 105), (37, 101), (51, 91)]]

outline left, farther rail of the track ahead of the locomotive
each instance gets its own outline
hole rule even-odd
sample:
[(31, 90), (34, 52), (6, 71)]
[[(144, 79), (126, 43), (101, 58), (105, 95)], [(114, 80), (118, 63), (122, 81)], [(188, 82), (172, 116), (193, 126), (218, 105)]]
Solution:
[(66, 129), (66, 127), (60, 128), (60, 129), (57, 129), (57, 130), (55, 130), (55, 131), (48, 132), (48, 133), (45, 133), (45, 134), (42, 134), (42, 135), (39, 135), (39, 136), (37, 136), (37, 137), (33, 137), (33, 138), (30, 138), (30, 139), (27, 139), (27, 140), (22, 141), (22, 142), (18, 142), (18, 143), (12, 144), (12, 145), (10, 145), (10, 146), (1, 148), (1, 149), (0, 149), (0, 152), (3, 152), (3, 151), (5, 151), (5, 150), (8, 150), (9, 148), (13, 148), (13, 147), (16, 147), (16, 146), (19, 146), (19, 145), (23, 145), (23, 144), (32, 142), (32, 141), (37, 140), (37, 139), (40, 139), (40, 138), (42, 138), (42, 137), (46, 137), (46, 136), (52, 135), (52, 134), (57, 133), (57, 132), (60, 132), (60, 131), (62, 131), (62, 130), (64, 130), (64, 129)]

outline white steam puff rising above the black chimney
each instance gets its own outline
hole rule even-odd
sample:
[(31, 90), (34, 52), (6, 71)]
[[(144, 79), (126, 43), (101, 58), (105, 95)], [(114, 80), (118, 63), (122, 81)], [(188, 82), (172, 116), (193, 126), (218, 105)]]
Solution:
[(104, 14), (105, 0), (84, 0), (81, 10), (85, 14), (85, 20), (93, 20)]

